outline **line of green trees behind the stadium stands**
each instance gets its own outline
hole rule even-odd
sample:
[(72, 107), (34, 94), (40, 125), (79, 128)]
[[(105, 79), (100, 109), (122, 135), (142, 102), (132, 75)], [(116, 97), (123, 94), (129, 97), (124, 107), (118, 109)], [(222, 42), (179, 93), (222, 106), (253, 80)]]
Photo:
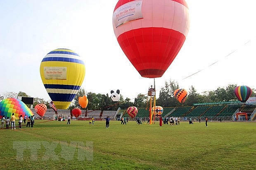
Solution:
[[(159, 91), (159, 98), (156, 99), (156, 105), (162, 107), (176, 107), (176, 106), (192, 106), (194, 103), (204, 103), (204, 102), (228, 102), (228, 101), (236, 101), (234, 90), (237, 87), (237, 84), (228, 84), (228, 86), (218, 87), (213, 91), (204, 91), (203, 93), (197, 93), (197, 90), (194, 86), (191, 86), (188, 91), (187, 99), (184, 103), (178, 102), (178, 100), (174, 97), (174, 91), (179, 88), (177, 82), (172, 81), (165, 82), (164, 86), (161, 87)], [(252, 96), (255, 96), (255, 89), (252, 89)], [(149, 102), (149, 98), (147, 98), (147, 94), (138, 94), (134, 99), (134, 102), (131, 102), (130, 98), (123, 98), (121, 95), (119, 102), (113, 102), (108, 94), (96, 94), (93, 92), (85, 92), (84, 88), (80, 88), (76, 97), (71, 102), (71, 105), (68, 109), (73, 109), (80, 107), (78, 103), (78, 97), (86, 95), (88, 98), (87, 108), (89, 110), (116, 110), (118, 107), (121, 109), (127, 109), (130, 106), (136, 106), (137, 108), (147, 107)], [(25, 96), (30, 97), (24, 92), (14, 93), (14, 92), (6, 92), (4, 95), (0, 95), (0, 100), (4, 98), (16, 98), (17, 96)], [(35, 107), (39, 103), (44, 103), (47, 105), (47, 108), (50, 108), (50, 101), (45, 101), (43, 98), (34, 98), (33, 107)], [(82, 109), (82, 108), (81, 108)]]

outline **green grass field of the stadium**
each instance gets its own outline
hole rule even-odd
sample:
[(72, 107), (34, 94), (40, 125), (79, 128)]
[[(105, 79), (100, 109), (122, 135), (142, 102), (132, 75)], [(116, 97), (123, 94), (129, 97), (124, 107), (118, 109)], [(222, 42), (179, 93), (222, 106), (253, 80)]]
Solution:
[(0, 169), (256, 169), (253, 122), (160, 127), (111, 121), (108, 129), (104, 121), (42, 122), (0, 130)]

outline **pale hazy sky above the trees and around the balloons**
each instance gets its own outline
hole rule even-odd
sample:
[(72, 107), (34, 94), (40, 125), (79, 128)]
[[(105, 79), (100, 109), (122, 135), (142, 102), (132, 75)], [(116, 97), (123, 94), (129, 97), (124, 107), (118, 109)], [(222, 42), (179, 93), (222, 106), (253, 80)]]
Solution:
[[(85, 91), (107, 94), (119, 89), (130, 99), (146, 94), (153, 79), (140, 76), (114, 35), (117, 1), (0, 0), (0, 94), (23, 91), (50, 100), (39, 68), (43, 57), (58, 48), (83, 58)], [(156, 93), (170, 79), (188, 91), (193, 85), (199, 93), (228, 84), (256, 88), (256, 0), (186, 2), (190, 30), (171, 66), (156, 78)]]

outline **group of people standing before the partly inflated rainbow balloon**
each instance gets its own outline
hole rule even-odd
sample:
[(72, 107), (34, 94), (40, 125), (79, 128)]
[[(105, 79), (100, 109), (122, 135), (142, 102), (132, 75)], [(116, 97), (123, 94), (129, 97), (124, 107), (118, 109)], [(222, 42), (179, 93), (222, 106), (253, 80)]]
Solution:
[[(15, 126), (15, 121), (16, 121), (16, 116), (14, 115), (14, 113), (12, 113), (12, 116), (9, 118), (5, 118), (5, 115), (2, 116), (2, 119), (1, 119), (1, 126), (0, 128), (3, 129), (4, 126), (6, 129), (9, 129), (9, 125), (11, 123), (11, 128), (12, 130), (16, 130), (16, 126)], [(26, 124), (26, 121), (27, 121), (27, 124)], [(22, 129), (22, 126), (25, 126), (25, 125), (22, 125), (22, 123), (25, 123), (26, 127), (30, 128), (30, 125), (31, 125), (31, 128), (33, 128), (33, 124), (35, 123), (35, 116), (32, 115), (32, 116), (27, 116), (25, 114), (24, 118), (22, 117), (22, 115), (19, 116), (19, 128)]]

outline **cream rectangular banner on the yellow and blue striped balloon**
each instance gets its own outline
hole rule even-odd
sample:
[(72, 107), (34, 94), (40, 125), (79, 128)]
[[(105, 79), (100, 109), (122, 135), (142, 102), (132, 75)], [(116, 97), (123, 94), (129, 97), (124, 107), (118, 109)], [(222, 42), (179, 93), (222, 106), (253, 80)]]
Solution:
[(44, 67), (45, 79), (66, 80), (66, 67)]

